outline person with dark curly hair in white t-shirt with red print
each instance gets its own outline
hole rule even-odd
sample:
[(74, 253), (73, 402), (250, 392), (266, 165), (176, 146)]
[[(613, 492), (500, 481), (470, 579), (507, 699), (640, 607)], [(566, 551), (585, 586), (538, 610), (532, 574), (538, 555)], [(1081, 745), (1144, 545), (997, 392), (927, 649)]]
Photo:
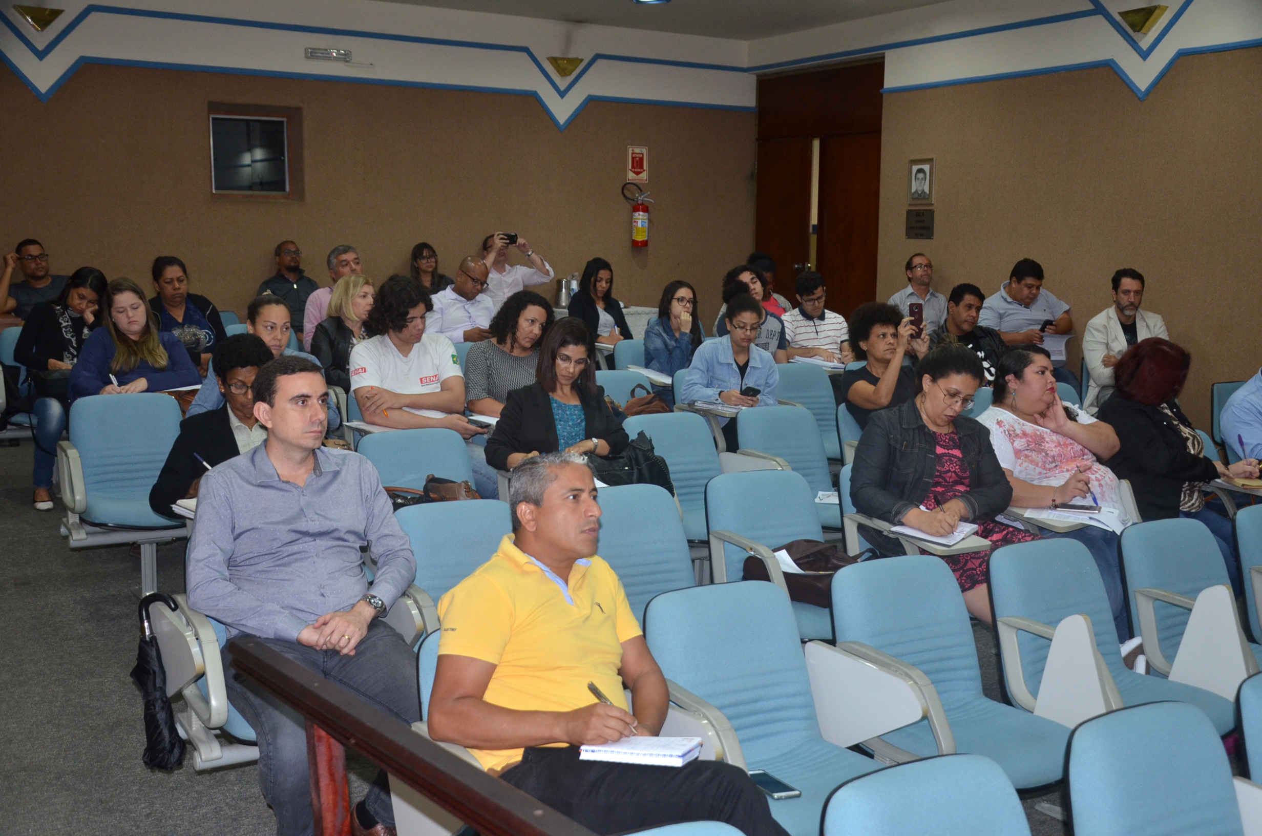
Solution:
[(381, 285), (365, 323), (381, 336), (351, 349), (355, 400), (370, 424), (458, 432), (469, 447), (475, 487), (483, 499), (497, 499), (495, 470), (482, 447), (469, 443), (486, 431), (464, 417), (464, 375), (456, 346), (442, 335), (425, 333), (432, 304), (419, 282), (399, 277)]

